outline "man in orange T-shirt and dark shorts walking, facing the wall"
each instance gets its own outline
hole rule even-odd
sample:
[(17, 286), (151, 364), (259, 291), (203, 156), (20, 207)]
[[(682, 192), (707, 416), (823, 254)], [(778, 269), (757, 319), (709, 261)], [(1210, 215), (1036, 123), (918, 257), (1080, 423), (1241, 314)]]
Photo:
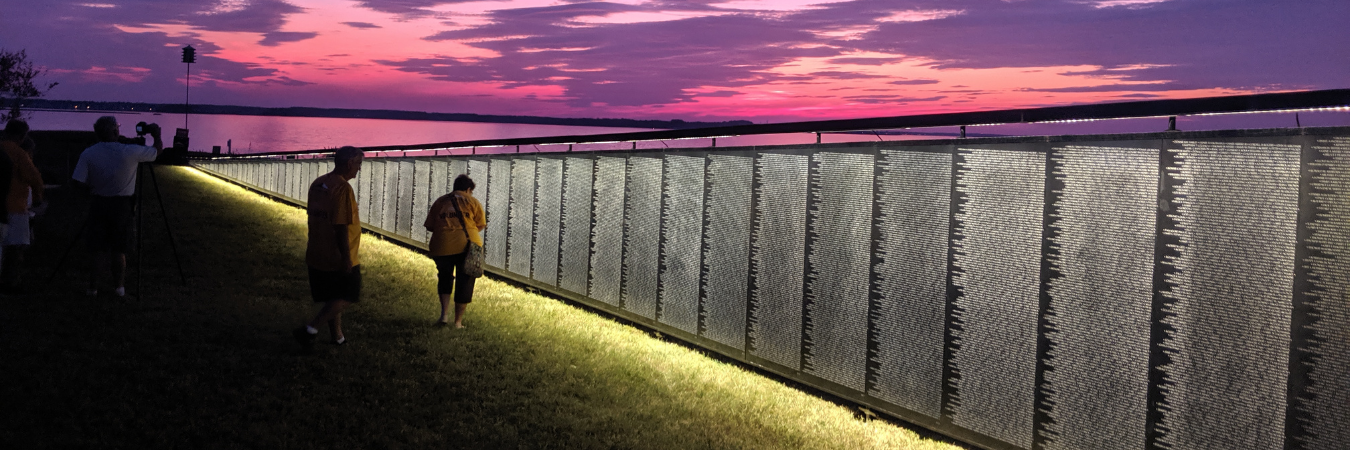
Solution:
[(309, 184), (309, 243), (305, 265), (309, 266), (309, 293), (323, 303), (319, 315), (292, 331), (301, 346), (309, 349), (319, 335), (319, 326), (328, 323), (336, 345), (347, 343), (342, 334), (342, 312), (360, 301), (360, 212), (356, 195), (347, 180), (360, 172), (363, 154), (346, 146), (333, 155), (333, 172)]

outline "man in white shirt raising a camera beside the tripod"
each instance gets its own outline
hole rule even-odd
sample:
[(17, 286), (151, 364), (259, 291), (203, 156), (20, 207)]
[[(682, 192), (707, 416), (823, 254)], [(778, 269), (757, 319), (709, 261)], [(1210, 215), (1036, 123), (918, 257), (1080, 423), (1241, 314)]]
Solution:
[[(104, 266), (112, 268), (112, 278), (119, 297), (127, 295), (127, 250), (131, 249), (132, 222), (136, 215), (136, 172), (142, 162), (159, 157), (165, 143), (159, 139), (159, 126), (146, 128), (154, 138), (154, 146), (122, 143), (117, 118), (103, 116), (93, 123), (99, 143), (85, 149), (76, 162), (70, 178), (89, 186), (93, 199), (89, 201), (89, 289), (85, 295), (99, 295), (99, 273)], [(109, 259), (111, 255), (111, 259)]]

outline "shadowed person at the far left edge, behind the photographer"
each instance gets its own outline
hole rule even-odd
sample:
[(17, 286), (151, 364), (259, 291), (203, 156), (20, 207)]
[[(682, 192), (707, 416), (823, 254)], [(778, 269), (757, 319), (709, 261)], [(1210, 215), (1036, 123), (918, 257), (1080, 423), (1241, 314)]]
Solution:
[(23, 149), (24, 138), (28, 136), (28, 123), (11, 119), (4, 126), (4, 154), (12, 164), (9, 169), (9, 193), (5, 195), (5, 214), (9, 224), (8, 232), (0, 245), (4, 246), (4, 257), (0, 258), (0, 292), (20, 295), (19, 273), (23, 270), (23, 254), (31, 245), (32, 234), (28, 228), (30, 207), (42, 209), (42, 174), (38, 166), (32, 165), (32, 157)]

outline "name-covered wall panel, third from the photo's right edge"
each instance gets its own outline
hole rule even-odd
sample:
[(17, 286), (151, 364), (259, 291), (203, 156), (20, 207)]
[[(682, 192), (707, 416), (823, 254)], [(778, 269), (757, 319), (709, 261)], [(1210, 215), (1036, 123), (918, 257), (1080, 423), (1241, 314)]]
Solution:
[(1160, 149), (1050, 154), (1042, 449), (1143, 449)]

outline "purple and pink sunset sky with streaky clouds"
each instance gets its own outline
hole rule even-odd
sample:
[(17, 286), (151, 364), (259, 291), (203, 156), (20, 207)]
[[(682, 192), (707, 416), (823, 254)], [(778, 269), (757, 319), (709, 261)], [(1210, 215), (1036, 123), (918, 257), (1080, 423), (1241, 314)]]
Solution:
[(1346, 0), (38, 0), (50, 99), (756, 123), (1350, 88)]

